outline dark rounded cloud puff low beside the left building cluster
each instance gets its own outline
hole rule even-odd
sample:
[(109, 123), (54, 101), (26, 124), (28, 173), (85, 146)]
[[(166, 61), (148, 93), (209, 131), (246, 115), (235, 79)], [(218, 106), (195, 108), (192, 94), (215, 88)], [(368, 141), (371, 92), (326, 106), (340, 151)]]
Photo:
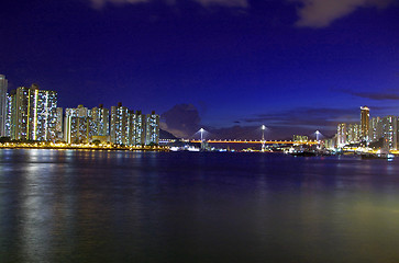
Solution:
[(160, 128), (178, 138), (189, 138), (198, 129), (201, 118), (192, 104), (177, 104), (160, 115)]

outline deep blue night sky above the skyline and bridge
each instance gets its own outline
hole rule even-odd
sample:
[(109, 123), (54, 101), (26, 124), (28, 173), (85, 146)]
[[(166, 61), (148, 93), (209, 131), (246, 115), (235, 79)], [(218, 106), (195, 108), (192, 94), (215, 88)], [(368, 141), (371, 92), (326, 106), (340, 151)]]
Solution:
[(399, 1), (8, 0), (0, 73), (177, 136), (330, 136), (362, 105), (399, 115)]

